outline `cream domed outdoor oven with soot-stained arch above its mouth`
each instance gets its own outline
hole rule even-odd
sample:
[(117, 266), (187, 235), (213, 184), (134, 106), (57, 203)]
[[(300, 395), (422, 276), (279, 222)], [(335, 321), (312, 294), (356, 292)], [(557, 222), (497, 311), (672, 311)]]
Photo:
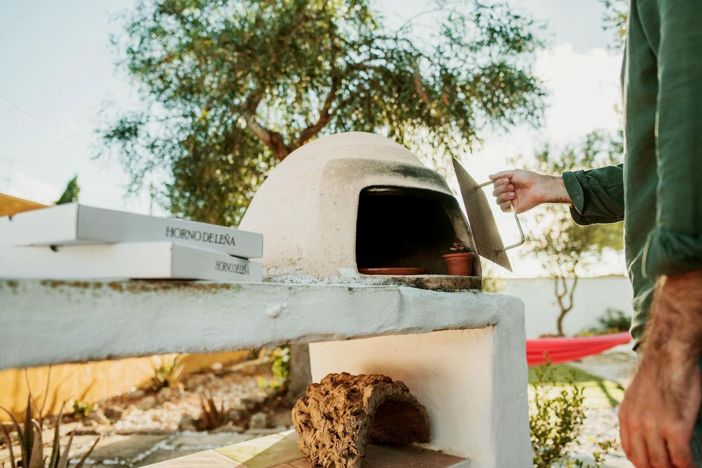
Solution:
[[(382, 195), (398, 198), (375, 198)], [(413, 197), (421, 207), (417, 213), (411, 209)], [(361, 213), (362, 199), (368, 208)], [(395, 201), (399, 205), (393, 205)], [(373, 211), (380, 206), (384, 212)], [(389, 217), (400, 213), (411, 219), (388, 225)], [(432, 229), (432, 223), (440, 229)], [(357, 233), (358, 226), (380, 230)], [(390, 232), (395, 226), (400, 231)], [(273, 278), (357, 274), (357, 251), (359, 258), (371, 262), (374, 249), (395, 247), (392, 239), (403, 240), (397, 245), (406, 249), (426, 249), (427, 253), (409, 252), (408, 258), (419, 263), (424, 257), (438, 259), (427, 267), (442, 275), (440, 252), (435, 252), (439, 242), (446, 250), (449, 239), (458, 237), (474, 247), (468, 222), (444, 178), (404, 146), (366, 132), (323, 137), (290, 153), (258, 188), (239, 227), (263, 233), (263, 266), (265, 275)], [(442, 232), (436, 235), (435, 230)], [(420, 238), (413, 240), (416, 233)], [(389, 245), (366, 249), (376, 238)], [(383, 261), (392, 261), (392, 255)], [(477, 256), (474, 263), (474, 275), (479, 275)]]

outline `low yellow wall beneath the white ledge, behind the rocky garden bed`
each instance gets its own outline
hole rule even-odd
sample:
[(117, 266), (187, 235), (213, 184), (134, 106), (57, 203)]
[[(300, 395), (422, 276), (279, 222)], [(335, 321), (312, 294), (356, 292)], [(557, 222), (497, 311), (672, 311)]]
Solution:
[[(237, 362), (249, 355), (248, 351), (220, 352), (211, 355), (184, 355), (180, 362), (185, 364), (183, 375), (212, 366)], [(176, 355), (164, 355), (163, 359), (173, 359)], [(79, 399), (93, 403), (117, 394), (128, 392), (131, 387), (140, 387), (150, 382), (154, 375), (156, 357), (134, 357), (115, 361), (98, 361), (86, 364), (59, 364), (51, 366), (51, 380), (48, 392), (46, 378), (48, 366), (27, 369), (0, 371), (0, 406), (7, 408), (15, 418), (23, 417), (27, 407), (27, 382), (32, 396), (41, 406), (44, 394), (48, 393), (45, 415), (59, 410), (63, 401)], [(0, 413), (0, 421), (8, 420), (8, 415)]]

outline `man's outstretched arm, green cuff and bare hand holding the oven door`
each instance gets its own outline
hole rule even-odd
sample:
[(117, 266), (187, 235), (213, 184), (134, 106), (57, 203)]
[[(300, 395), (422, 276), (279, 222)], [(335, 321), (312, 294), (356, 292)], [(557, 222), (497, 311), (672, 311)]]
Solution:
[(571, 205), (571, 216), (581, 225), (616, 223), (624, 219), (623, 165), (564, 172), (548, 176), (515, 169), (492, 174), (493, 195), (505, 212), (514, 203), (523, 213), (541, 203)]

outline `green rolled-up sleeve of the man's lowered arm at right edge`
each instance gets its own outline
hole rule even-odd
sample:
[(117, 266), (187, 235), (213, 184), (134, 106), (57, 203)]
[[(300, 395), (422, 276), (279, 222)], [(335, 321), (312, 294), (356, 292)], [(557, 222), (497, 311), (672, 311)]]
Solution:
[(658, 0), (656, 227), (647, 277), (702, 269), (702, 5)]

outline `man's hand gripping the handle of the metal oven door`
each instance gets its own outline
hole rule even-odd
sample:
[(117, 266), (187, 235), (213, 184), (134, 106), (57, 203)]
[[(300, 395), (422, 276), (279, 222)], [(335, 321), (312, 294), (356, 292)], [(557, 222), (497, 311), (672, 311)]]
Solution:
[(513, 169), (492, 174), (490, 179), (495, 181), (492, 194), (503, 212), (510, 211), (511, 205), (523, 213), (541, 203), (571, 203), (563, 177)]

